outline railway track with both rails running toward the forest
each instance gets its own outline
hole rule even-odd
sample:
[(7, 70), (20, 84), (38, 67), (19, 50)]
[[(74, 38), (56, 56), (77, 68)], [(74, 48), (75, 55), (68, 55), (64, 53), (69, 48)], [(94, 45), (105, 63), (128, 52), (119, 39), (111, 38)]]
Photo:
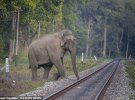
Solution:
[(92, 74), (44, 98), (45, 100), (101, 100), (120, 59), (115, 59)]

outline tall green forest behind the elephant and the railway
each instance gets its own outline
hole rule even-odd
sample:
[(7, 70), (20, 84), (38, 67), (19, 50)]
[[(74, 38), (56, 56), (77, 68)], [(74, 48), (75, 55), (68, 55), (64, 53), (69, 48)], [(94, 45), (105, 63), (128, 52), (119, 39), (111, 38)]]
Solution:
[(0, 0), (0, 61), (27, 57), (44, 34), (70, 29), (77, 55), (135, 57), (135, 0)]

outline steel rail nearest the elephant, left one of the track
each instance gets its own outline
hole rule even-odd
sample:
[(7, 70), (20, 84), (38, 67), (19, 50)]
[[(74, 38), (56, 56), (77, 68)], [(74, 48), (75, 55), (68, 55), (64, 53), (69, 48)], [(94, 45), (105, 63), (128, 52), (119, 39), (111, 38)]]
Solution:
[[(118, 59), (116, 59), (116, 60), (118, 60)], [(107, 63), (104, 67), (102, 67), (102, 68), (96, 70), (95, 72), (91, 73), (90, 75), (87, 75), (86, 77), (81, 78), (81, 79), (78, 80), (77, 82), (75, 82), (75, 83), (73, 83), (73, 84), (67, 86), (66, 88), (64, 88), (64, 89), (62, 89), (62, 90), (60, 90), (60, 91), (58, 91), (58, 92), (56, 92), (56, 93), (53, 93), (52, 95), (50, 95), (50, 96), (48, 96), (48, 97), (46, 97), (46, 98), (44, 98), (44, 99), (45, 99), (45, 100), (54, 100), (54, 99), (60, 97), (61, 95), (63, 95), (64, 93), (66, 93), (67, 91), (69, 91), (70, 89), (72, 89), (73, 87), (75, 87), (75, 86), (79, 85), (80, 83), (84, 82), (85, 80), (89, 79), (90, 77), (92, 77), (93, 75), (95, 75), (96, 73), (98, 73), (99, 71), (101, 71), (102, 69), (104, 69), (105, 67), (107, 67), (108, 65), (112, 64), (112, 63), (113, 63), (114, 61), (116, 61), (116, 60), (110, 61), (110, 62)]]

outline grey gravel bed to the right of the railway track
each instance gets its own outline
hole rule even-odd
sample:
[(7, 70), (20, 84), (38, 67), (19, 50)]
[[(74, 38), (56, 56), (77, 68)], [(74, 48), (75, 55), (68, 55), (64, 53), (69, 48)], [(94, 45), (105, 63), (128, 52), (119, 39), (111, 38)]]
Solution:
[(132, 94), (135, 95), (135, 91), (130, 88), (125, 66), (120, 63), (103, 100), (129, 100)]

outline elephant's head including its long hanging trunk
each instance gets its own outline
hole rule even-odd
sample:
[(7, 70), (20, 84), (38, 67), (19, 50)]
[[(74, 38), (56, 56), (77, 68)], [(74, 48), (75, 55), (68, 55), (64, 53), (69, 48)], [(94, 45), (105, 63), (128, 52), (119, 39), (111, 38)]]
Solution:
[(76, 69), (76, 42), (70, 30), (63, 30), (59, 33), (60, 45), (65, 51), (69, 51), (72, 59), (72, 66), (76, 78), (79, 80), (78, 71)]

